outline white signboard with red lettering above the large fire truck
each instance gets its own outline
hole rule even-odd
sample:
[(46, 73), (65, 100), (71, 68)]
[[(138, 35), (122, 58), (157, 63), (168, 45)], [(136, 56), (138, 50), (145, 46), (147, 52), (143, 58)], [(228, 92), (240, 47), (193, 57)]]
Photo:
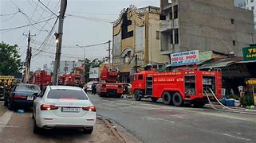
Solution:
[(199, 63), (199, 50), (176, 52), (171, 54), (171, 66), (190, 65)]

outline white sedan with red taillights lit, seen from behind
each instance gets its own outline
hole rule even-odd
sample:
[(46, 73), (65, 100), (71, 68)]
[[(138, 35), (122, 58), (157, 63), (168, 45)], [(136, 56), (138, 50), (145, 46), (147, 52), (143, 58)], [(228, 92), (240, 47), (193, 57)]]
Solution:
[(48, 86), (33, 102), (33, 133), (58, 127), (92, 133), (96, 107), (80, 87)]

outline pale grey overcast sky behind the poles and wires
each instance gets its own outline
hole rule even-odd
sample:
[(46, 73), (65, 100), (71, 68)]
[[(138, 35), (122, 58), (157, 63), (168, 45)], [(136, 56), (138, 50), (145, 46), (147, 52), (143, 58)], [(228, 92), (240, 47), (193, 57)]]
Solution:
[[(58, 15), (60, 0), (41, 0), (41, 2)], [(63, 48), (61, 60), (82, 59), (84, 51), (75, 44), (100, 44), (112, 40), (112, 21), (119, 17), (120, 10), (135, 5), (136, 7), (160, 6), (160, 0), (68, 0), (64, 21)], [(0, 29), (9, 29), (22, 25), (29, 25), (55, 17), (38, 0), (0, 0)], [(36, 34), (32, 37), (33, 59), (31, 70), (42, 68), (54, 60), (55, 37), (50, 34), (53, 29), (53, 18), (21, 29), (0, 30), (0, 41), (6, 44), (18, 44), (22, 54), (22, 61), (26, 58), (27, 37), (23, 35), (29, 31)], [(57, 25), (53, 33), (57, 32)], [(46, 38), (48, 36), (48, 38)], [(41, 44), (47, 41), (46, 44)], [(40, 48), (41, 51), (36, 51)], [(108, 44), (86, 48), (89, 59), (102, 58), (108, 55)], [(39, 52), (39, 53), (38, 53)]]

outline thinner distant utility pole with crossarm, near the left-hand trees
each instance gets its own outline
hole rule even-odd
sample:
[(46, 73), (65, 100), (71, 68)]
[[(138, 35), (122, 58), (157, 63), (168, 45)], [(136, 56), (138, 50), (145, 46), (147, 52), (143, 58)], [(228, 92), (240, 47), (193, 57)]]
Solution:
[(31, 37), (34, 37), (36, 35), (31, 35), (30, 31), (29, 34), (26, 35), (23, 33), (26, 37), (28, 37), (28, 48), (26, 52), (26, 68), (25, 68), (25, 80), (23, 81), (24, 83), (28, 83), (30, 80), (30, 62), (31, 62), (31, 56), (32, 56), (32, 48), (30, 47), (30, 40)]

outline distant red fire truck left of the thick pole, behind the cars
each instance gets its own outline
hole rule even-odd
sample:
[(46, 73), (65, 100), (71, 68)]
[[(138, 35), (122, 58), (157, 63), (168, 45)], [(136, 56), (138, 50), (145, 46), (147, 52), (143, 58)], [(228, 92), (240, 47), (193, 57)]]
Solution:
[(44, 70), (37, 70), (33, 73), (30, 83), (37, 84), (41, 89), (52, 82), (52, 75)]

